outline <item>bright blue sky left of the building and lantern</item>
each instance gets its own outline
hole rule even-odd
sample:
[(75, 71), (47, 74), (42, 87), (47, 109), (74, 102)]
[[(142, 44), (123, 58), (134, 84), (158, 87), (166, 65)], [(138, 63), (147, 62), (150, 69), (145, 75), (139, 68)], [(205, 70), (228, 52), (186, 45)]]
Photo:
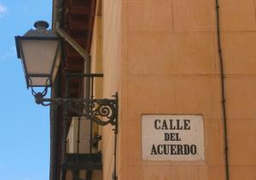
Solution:
[(51, 0), (0, 0), (0, 180), (49, 179), (49, 108), (26, 90), (15, 36), (51, 15)]

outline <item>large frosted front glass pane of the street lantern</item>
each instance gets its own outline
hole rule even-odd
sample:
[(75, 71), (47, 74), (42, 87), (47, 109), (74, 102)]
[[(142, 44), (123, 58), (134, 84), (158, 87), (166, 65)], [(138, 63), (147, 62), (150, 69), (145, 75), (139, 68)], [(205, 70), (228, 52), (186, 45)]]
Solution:
[(58, 47), (57, 40), (20, 41), (27, 74), (50, 74)]

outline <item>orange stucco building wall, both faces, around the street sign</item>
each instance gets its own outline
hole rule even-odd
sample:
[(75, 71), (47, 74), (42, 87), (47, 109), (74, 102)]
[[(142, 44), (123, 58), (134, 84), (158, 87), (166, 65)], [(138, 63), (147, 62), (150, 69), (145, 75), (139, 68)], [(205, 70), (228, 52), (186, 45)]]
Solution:
[[(225, 179), (215, 15), (214, 0), (103, 0), (103, 96), (119, 91), (119, 179)], [(255, 15), (253, 0), (220, 0), (230, 180), (256, 179)], [(145, 113), (202, 114), (206, 160), (142, 160)], [(110, 127), (102, 149), (108, 180)]]

